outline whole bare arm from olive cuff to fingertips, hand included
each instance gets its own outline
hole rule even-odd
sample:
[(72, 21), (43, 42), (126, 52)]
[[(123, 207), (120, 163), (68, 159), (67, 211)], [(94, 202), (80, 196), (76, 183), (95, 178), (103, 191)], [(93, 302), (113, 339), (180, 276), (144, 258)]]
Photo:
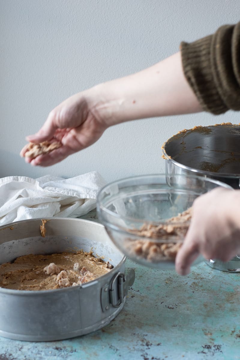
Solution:
[[(25, 160), (32, 165), (53, 165), (93, 144), (109, 126), (198, 111), (201, 107), (177, 53), (139, 73), (96, 85), (64, 100), (49, 113), (41, 129), (27, 137), (33, 143), (58, 140), (61, 147)], [(26, 146), (21, 156), (25, 156)]]

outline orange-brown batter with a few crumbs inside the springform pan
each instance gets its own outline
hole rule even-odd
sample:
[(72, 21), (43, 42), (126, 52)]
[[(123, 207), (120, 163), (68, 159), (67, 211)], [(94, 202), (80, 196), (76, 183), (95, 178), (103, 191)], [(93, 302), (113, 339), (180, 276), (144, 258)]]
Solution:
[(92, 252), (25, 255), (0, 265), (0, 287), (49, 290), (81, 285), (107, 274), (112, 265)]

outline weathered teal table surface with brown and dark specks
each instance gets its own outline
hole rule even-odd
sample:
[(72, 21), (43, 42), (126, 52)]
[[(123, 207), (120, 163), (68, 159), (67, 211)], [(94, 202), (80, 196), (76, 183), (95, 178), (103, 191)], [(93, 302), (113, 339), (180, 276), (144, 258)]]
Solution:
[[(85, 219), (98, 221), (90, 212)], [(120, 314), (105, 328), (64, 341), (0, 337), (0, 360), (240, 359), (240, 274), (205, 263), (189, 276), (127, 260), (136, 279)]]

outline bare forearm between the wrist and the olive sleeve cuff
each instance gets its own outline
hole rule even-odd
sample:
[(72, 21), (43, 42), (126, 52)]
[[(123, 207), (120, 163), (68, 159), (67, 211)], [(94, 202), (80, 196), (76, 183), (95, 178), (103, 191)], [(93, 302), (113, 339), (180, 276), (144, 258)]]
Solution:
[(103, 114), (107, 126), (201, 111), (184, 76), (180, 53), (133, 75), (97, 85), (92, 91), (99, 94), (94, 109)]

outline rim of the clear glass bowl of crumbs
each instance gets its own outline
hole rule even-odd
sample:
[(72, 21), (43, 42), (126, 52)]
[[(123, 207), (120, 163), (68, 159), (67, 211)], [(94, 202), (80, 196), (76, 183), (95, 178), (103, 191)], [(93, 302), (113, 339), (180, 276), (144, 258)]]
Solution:
[[(121, 219), (121, 220), (127, 220), (127, 221), (130, 220), (130, 221), (141, 222), (141, 223), (144, 221), (145, 223), (148, 223), (148, 224), (156, 224), (156, 223), (157, 224), (166, 224), (166, 221), (162, 221), (162, 222), (161, 221), (146, 221), (144, 219), (135, 219), (135, 218), (128, 217), (128, 216), (120, 216), (117, 213), (107, 209), (100, 201), (101, 195), (104, 192), (106, 192), (105, 189), (107, 189), (111, 185), (119, 185), (121, 183), (130, 181), (130, 180), (135, 180), (135, 179), (148, 179), (148, 178), (151, 178), (151, 177), (157, 178), (157, 177), (163, 177), (163, 176), (164, 177), (169, 176), (169, 177), (180, 177), (180, 178), (188, 178), (188, 179), (199, 179), (199, 180), (202, 180), (202, 181), (207, 181), (209, 183), (216, 184), (218, 186), (221, 186), (222, 188), (234, 191), (234, 189), (230, 185), (228, 185), (226, 183), (223, 183), (222, 181), (211, 179), (211, 178), (208, 178), (207, 176), (201, 176), (201, 175), (159, 173), (159, 174), (147, 174), (147, 175), (137, 175), (137, 176), (124, 177), (124, 178), (112, 181), (112, 182), (106, 184), (105, 186), (103, 186), (103, 188), (100, 189), (100, 191), (98, 193), (98, 196), (97, 196), (96, 208), (97, 208), (98, 215), (99, 215), (101, 221), (106, 223), (106, 221), (104, 221), (103, 217), (101, 216), (101, 211), (104, 211), (104, 212), (108, 213), (109, 215), (111, 215), (111, 216), (113, 216), (113, 217), (115, 217), (117, 219)], [(173, 224), (173, 222), (169, 222), (168, 224), (171, 225), (171, 224)], [(174, 224), (179, 224), (179, 222), (178, 223), (174, 222)]]

